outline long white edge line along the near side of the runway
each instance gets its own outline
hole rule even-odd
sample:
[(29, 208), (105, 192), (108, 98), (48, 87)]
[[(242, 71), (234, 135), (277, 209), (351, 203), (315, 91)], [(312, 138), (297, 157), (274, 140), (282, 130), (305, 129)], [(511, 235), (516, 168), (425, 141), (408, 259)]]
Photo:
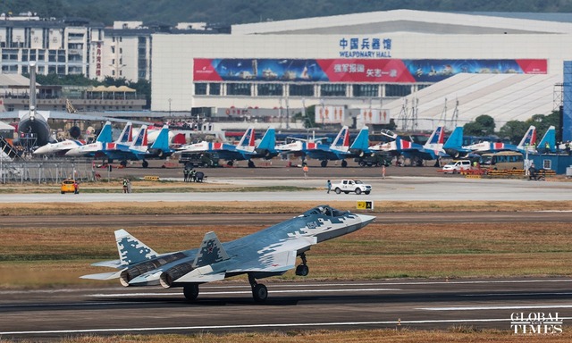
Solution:
[[(568, 318), (562, 318), (568, 319)], [(400, 321), (403, 324), (426, 324), (426, 323), (457, 323), (457, 322), (510, 322), (510, 318), (491, 319), (450, 319), (450, 320), (426, 320), (426, 321)], [(62, 333), (88, 333), (88, 332), (130, 332), (130, 331), (169, 331), (169, 330), (229, 330), (229, 329), (257, 329), (257, 328), (292, 328), (314, 326), (362, 326), (362, 325), (397, 325), (397, 321), (381, 322), (293, 322), (293, 323), (264, 323), (249, 325), (211, 325), (211, 326), (176, 326), (155, 328), (116, 328), (116, 329), (83, 329), (83, 330), (37, 330), (37, 331), (4, 331), (0, 335), (38, 335), (38, 334), (62, 334)]]

